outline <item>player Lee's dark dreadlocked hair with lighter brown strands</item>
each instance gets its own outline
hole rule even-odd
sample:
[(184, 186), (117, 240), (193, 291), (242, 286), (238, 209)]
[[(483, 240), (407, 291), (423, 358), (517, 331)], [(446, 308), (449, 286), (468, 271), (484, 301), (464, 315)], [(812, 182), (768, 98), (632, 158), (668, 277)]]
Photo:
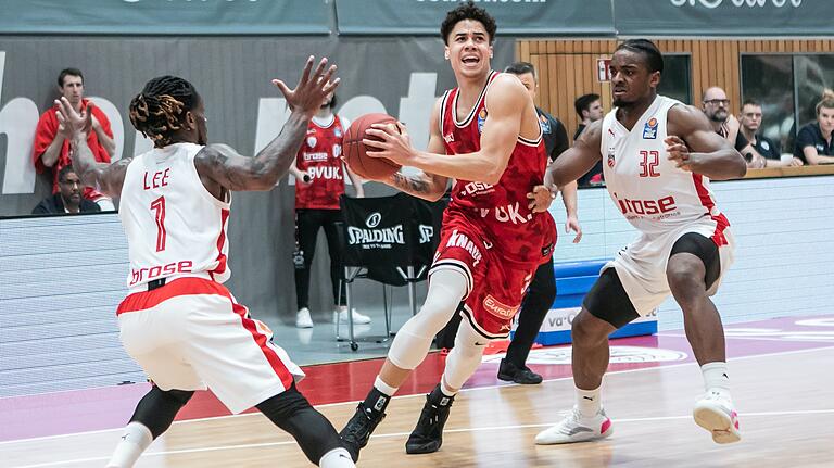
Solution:
[(156, 148), (172, 143), (174, 132), (185, 125), (186, 113), (197, 106), (200, 97), (194, 86), (176, 76), (160, 76), (144, 85), (130, 101), (130, 122), (153, 140)]

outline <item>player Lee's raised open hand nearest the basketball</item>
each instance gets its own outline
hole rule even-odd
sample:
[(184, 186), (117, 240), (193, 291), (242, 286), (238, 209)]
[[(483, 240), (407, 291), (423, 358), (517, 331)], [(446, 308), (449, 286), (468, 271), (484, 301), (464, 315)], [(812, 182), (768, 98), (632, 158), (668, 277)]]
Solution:
[(339, 86), (340, 80), (336, 78), (331, 81), (333, 74), (336, 74), (336, 65), (327, 67), (327, 58), (318, 62), (315, 71), (313, 71), (314, 61), (315, 58), (309, 55), (301, 73), (301, 79), (293, 89), (290, 89), (280, 79), (273, 79), (273, 85), (281, 91), (290, 110), (301, 112), (308, 117), (312, 117), (321, 107), (321, 102)]

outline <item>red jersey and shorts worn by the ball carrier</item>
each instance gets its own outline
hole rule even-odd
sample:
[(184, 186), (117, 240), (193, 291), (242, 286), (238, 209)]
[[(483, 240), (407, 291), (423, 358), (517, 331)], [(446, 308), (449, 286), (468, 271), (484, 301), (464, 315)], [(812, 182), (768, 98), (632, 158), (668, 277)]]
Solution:
[[(459, 90), (446, 91), (440, 130), (446, 154), (480, 150), (488, 118), (484, 99), (497, 76), (492, 72), (475, 107), (463, 121), (455, 112)], [(518, 137), (507, 168), (496, 185), (456, 180), (443, 215), (440, 245), (430, 273), (458, 268), (469, 290), (462, 314), (485, 338), (505, 338), (532, 274), (549, 256), (555, 230), (547, 213), (532, 213), (527, 193), (542, 184), (547, 154), (541, 132)]]

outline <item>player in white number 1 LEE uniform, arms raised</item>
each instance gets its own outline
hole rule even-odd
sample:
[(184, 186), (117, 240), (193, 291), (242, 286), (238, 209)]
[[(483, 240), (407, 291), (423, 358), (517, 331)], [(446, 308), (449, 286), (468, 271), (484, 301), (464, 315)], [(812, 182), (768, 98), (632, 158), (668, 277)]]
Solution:
[(130, 293), (117, 309), (125, 350), (153, 382), (125, 428), (108, 467), (131, 467), (170, 426), (195, 390), (210, 388), (232, 412), (252, 406), (298, 441), (321, 467), (353, 467), (332, 425), (295, 389), (304, 374), (271, 343), (222, 284), (229, 277), (226, 229), (232, 190), (269, 190), (287, 174), (336, 66), (307, 60), (295, 89), (273, 83), (292, 110), (280, 135), (254, 157), (206, 146), (203, 101), (182, 78), (162, 76), (130, 102), (130, 122), (154, 149), (114, 164), (87, 146), (90, 113), (66, 99), (60, 121), (85, 185), (121, 198)]

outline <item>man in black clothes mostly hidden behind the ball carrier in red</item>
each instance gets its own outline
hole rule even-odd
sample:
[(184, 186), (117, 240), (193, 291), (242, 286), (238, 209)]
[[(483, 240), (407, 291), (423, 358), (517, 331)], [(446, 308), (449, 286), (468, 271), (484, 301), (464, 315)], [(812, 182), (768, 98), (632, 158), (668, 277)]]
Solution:
[[(518, 76), (518, 79), (530, 92), (530, 97), (535, 99), (535, 91), (539, 83), (535, 77), (535, 68), (531, 63), (517, 62), (509, 65), (504, 72)], [(551, 162), (568, 149), (568, 134), (565, 126), (559, 121), (548, 115), (546, 112), (535, 107), (539, 113), (539, 123), (542, 126), (544, 135), (544, 144), (547, 149), (547, 155)], [(563, 187), (561, 198), (565, 203), (565, 211), (568, 219), (565, 223), (565, 232), (573, 230), (577, 236), (573, 243), (582, 239), (582, 228), (577, 219), (577, 182), (571, 182)], [(547, 312), (556, 299), (556, 277), (553, 271), (553, 263), (545, 262), (535, 270), (532, 281), (528, 287), (527, 294), (521, 302), (521, 309), (518, 315), (518, 327), (513, 336), (513, 341), (507, 347), (507, 355), (501, 359), (498, 366), (498, 379), (514, 381), (516, 383), (541, 383), (542, 376), (533, 372), (527, 367), (527, 356), (530, 354), (530, 347), (533, 345), (539, 329)]]

